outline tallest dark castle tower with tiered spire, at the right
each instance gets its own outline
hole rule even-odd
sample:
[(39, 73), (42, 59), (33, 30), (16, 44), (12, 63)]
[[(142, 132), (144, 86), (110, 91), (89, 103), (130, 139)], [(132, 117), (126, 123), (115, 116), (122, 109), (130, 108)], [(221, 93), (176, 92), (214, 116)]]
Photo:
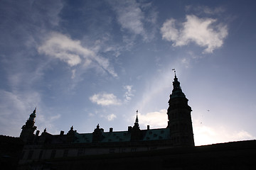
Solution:
[(170, 94), (169, 108), (167, 110), (171, 140), (174, 146), (195, 146), (191, 121), (192, 110), (188, 106), (188, 99), (181, 90), (176, 72), (173, 86), (174, 89)]

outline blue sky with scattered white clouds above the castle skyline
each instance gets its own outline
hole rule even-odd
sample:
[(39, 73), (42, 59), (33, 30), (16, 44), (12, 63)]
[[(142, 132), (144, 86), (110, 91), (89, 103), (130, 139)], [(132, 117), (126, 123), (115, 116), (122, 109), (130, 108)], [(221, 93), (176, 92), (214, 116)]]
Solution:
[(256, 137), (255, 1), (1, 1), (0, 133), (165, 128), (176, 69), (196, 145)]

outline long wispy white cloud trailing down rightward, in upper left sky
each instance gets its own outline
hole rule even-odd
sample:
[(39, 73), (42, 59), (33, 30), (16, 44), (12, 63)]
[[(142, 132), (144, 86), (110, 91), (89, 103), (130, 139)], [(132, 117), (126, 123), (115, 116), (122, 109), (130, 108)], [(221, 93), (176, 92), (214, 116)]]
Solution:
[(82, 47), (80, 40), (72, 40), (67, 35), (50, 33), (38, 52), (66, 62), (70, 67), (82, 64), (82, 67), (97, 67), (117, 77), (110, 62), (97, 55), (97, 51)]

